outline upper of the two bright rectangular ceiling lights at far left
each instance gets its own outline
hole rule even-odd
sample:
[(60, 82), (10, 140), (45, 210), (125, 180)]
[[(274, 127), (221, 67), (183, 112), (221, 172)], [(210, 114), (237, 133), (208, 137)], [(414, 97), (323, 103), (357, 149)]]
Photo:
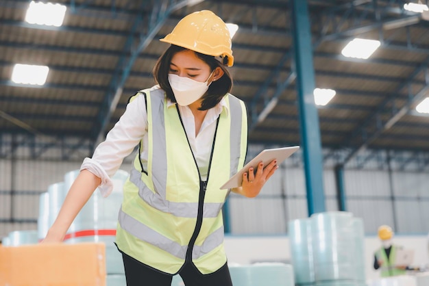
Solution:
[(66, 6), (58, 3), (31, 1), (25, 15), (25, 21), (30, 24), (60, 27), (64, 21), (66, 10)]

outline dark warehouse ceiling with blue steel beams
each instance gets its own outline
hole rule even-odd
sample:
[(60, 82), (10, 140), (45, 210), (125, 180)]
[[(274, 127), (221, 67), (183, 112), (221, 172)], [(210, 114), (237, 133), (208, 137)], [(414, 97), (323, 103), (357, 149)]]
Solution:
[[(160, 42), (186, 14), (212, 10), (239, 29), (232, 40), (232, 94), (249, 110), (249, 143), (300, 144), (287, 0), (58, 0), (61, 27), (24, 21), (27, 0), (0, 0), (0, 156), (12, 135), (56, 138), (39, 146), (92, 149), (136, 91), (154, 85)], [(364, 148), (429, 152), (429, 116), (415, 106), (429, 96), (429, 18), (405, 1), (308, 0), (315, 87), (336, 90), (318, 107), (321, 144), (350, 158)], [(341, 55), (354, 38), (380, 40), (367, 60)], [(44, 86), (11, 81), (14, 64), (49, 66)], [(305, 81), (305, 79), (304, 79)], [(25, 137), (23, 137), (25, 136)], [(34, 140), (34, 139), (33, 139)], [(98, 140), (98, 141), (97, 141)], [(71, 142), (71, 140), (70, 140)], [(426, 161), (429, 164), (429, 160)]]

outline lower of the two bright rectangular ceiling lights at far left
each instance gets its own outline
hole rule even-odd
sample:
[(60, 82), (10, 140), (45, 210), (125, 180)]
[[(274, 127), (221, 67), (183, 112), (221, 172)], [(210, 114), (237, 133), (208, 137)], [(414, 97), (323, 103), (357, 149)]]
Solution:
[(15, 64), (12, 70), (14, 83), (43, 86), (49, 73), (47, 66), (34, 66), (31, 64)]

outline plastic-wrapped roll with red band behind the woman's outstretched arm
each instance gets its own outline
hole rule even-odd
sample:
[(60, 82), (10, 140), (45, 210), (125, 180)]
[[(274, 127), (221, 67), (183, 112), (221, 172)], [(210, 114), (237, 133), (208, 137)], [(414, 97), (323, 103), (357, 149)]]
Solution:
[[(72, 171), (64, 177), (64, 185), (69, 186), (79, 174), (79, 170)], [(106, 244), (106, 272), (107, 274), (124, 274), (121, 253), (114, 245), (118, 211), (123, 198), (123, 184), (128, 173), (118, 170), (112, 177), (114, 188), (108, 198), (103, 198), (97, 190), (90, 197), (86, 205), (79, 212), (69, 229), (64, 242), (74, 244), (79, 242), (103, 242)]]

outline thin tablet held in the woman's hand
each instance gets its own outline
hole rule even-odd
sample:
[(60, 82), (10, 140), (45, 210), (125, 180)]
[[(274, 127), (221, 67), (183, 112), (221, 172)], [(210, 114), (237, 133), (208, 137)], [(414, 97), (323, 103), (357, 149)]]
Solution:
[(241, 182), (243, 181), (243, 174), (247, 172), (250, 167), (258, 167), (260, 161), (264, 163), (264, 167), (273, 161), (273, 159), (277, 159), (277, 164), (280, 165), (282, 161), (284, 161), (287, 157), (290, 157), (293, 153), (295, 153), (299, 149), (299, 146), (291, 146), (291, 147), (283, 147), (283, 148), (273, 148), (273, 149), (265, 149), (261, 153), (259, 153), (254, 159), (249, 161), (243, 169), (239, 170), (234, 176), (232, 176), (227, 182), (225, 182), (221, 186), (221, 190), (231, 189), (232, 187), (240, 187)]

